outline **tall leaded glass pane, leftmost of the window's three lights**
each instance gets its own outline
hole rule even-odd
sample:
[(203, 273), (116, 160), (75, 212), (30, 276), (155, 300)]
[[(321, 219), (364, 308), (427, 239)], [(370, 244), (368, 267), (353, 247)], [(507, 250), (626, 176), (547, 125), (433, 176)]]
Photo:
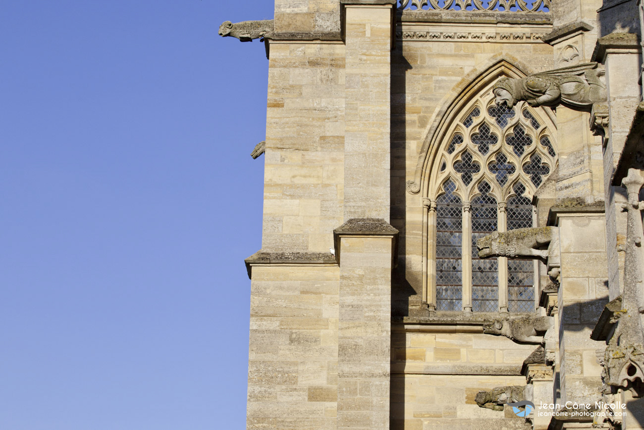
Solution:
[(462, 310), (462, 205), (452, 181), (436, 200), (436, 308)]

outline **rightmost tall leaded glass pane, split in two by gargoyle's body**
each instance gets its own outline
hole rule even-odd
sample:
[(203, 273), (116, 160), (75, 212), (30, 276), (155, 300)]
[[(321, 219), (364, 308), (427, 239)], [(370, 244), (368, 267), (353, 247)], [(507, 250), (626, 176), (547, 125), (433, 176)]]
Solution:
[[(533, 206), (524, 196), (526, 186), (515, 184), (515, 197), (507, 200), (507, 229), (533, 226)], [(507, 261), (507, 309), (510, 312), (532, 312), (535, 310), (534, 289), (535, 268), (531, 260)]]

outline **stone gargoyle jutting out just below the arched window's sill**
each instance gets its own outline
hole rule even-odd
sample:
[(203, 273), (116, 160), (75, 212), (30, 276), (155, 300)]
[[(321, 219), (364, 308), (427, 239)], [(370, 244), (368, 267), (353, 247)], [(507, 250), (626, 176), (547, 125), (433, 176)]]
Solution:
[(553, 325), (552, 317), (506, 317), (484, 320), (483, 333), (505, 336), (524, 344), (543, 344), (545, 332)]

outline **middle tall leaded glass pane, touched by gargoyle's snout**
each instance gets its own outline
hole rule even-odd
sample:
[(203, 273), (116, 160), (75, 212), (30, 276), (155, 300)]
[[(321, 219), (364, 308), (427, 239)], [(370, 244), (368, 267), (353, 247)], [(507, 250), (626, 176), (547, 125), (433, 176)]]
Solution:
[(489, 195), (488, 182), (478, 186), (480, 195), (471, 202), (472, 310), (495, 312), (498, 308), (498, 259), (479, 259), (477, 240), (497, 230), (497, 199)]

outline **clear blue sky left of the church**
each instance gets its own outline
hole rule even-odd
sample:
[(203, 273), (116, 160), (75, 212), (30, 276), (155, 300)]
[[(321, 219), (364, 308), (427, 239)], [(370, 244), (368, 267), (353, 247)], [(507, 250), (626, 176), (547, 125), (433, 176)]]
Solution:
[(245, 427), (272, 8), (1, 2), (1, 429)]

